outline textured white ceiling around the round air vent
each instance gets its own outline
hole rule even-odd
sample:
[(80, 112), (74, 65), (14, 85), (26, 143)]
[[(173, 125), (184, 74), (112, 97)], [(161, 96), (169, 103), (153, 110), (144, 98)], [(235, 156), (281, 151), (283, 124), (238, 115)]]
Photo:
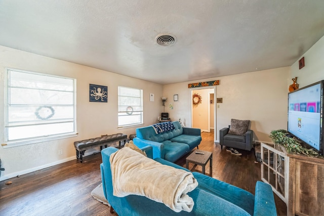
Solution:
[[(291, 66), (323, 0), (1, 0), (0, 45), (168, 84)], [(157, 45), (170, 33), (176, 44)]]

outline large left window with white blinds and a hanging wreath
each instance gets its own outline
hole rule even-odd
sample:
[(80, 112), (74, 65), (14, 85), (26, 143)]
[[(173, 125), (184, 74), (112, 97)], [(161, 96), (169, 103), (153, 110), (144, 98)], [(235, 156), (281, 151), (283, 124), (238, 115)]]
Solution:
[(6, 72), (7, 145), (75, 135), (75, 79), (12, 68)]

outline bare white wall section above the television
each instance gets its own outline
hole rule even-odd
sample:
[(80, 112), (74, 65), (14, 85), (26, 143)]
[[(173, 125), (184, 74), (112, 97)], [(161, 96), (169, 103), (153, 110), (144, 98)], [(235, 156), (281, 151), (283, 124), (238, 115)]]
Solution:
[[(291, 67), (291, 77), (298, 77), (299, 88), (324, 79), (324, 36), (299, 59), (302, 57), (305, 57), (305, 66), (302, 69), (299, 69), (298, 61)], [(290, 82), (293, 83), (292, 80)]]

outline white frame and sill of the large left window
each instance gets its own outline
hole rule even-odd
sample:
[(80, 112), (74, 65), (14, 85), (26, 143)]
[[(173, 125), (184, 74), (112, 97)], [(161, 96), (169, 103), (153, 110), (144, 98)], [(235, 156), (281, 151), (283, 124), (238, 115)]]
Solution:
[[(9, 134), (8, 134), (8, 129), (12, 126), (9, 126), (7, 124), (9, 124), (9, 94), (8, 91), (10, 88), (9, 87), (9, 80), (10, 77), (9, 73), (11, 71), (17, 71), (17, 72), (22, 72), (22, 73), (30, 73), (30, 74), (35, 74), (35, 75), (45, 75), (45, 76), (49, 76), (49, 77), (57, 77), (57, 78), (64, 78), (64, 79), (70, 79), (73, 83), (73, 105), (72, 105), (72, 109), (73, 109), (73, 132), (66, 132), (66, 133), (59, 133), (59, 134), (53, 134), (53, 135), (43, 135), (43, 136), (36, 136), (36, 137), (30, 137), (30, 138), (22, 138), (22, 139), (15, 139), (15, 140), (10, 140), (9, 139)], [(37, 89), (38, 91), (40, 89)], [(35, 144), (35, 143), (41, 143), (41, 142), (47, 142), (47, 141), (53, 141), (53, 140), (59, 140), (59, 139), (66, 139), (66, 138), (70, 138), (70, 137), (76, 137), (77, 133), (76, 133), (76, 78), (72, 78), (72, 77), (67, 77), (67, 76), (61, 76), (61, 75), (54, 75), (54, 74), (49, 74), (49, 73), (42, 73), (42, 72), (35, 72), (35, 71), (28, 71), (28, 70), (23, 70), (23, 69), (16, 69), (16, 68), (9, 68), (9, 67), (5, 67), (5, 97), (4, 97), (4, 103), (5, 103), (5, 113), (4, 113), (4, 141), (5, 143), (2, 144), (3, 148), (11, 148), (11, 147), (16, 147), (16, 146), (23, 146), (23, 145), (29, 145), (29, 144)], [(45, 105), (46, 106), (46, 105)], [(45, 107), (44, 106), (44, 107)], [(58, 121), (60, 122), (60, 121)], [(62, 121), (61, 121), (62, 122)], [(51, 124), (50, 122), (45, 123), (45, 125), (49, 125)], [(24, 124), (18, 124), (18, 126), (22, 126)], [(37, 125), (37, 124), (30, 124), (31, 125)]]

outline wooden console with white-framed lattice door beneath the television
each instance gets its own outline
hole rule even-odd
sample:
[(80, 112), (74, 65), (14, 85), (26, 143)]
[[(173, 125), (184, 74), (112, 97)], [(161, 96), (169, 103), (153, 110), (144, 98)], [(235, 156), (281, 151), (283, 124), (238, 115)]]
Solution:
[(324, 214), (324, 159), (261, 144), (261, 179), (287, 204), (287, 215)]

